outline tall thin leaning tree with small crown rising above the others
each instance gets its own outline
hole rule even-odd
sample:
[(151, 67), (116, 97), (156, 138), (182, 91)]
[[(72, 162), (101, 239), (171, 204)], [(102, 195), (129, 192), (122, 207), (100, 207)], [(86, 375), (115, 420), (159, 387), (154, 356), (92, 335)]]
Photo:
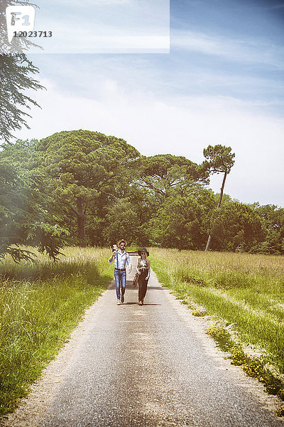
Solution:
[[(205, 161), (203, 162), (204, 168), (209, 171), (209, 173), (223, 173), (223, 181), (219, 196), (219, 201), (217, 204), (217, 209), (222, 204), (222, 197), (224, 192), (224, 186), (226, 181), (226, 176), (231, 172), (231, 168), (234, 166), (234, 157), (235, 154), (231, 152), (231, 147), (225, 147), (224, 145), (209, 145), (206, 149), (203, 150)], [(209, 233), (207, 245), (205, 251), (209, 250), (210, 242), (212, 239), (211, 232)]]

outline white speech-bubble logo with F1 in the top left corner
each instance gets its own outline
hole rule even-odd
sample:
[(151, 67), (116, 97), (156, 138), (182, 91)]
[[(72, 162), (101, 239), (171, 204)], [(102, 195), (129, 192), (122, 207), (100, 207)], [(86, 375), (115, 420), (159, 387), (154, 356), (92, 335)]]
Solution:
[(8, 41), (11, 43), (15, 32), (33, 31), (35, 26), (35, 8), (33, 6), (7, 6), (6, 22)]

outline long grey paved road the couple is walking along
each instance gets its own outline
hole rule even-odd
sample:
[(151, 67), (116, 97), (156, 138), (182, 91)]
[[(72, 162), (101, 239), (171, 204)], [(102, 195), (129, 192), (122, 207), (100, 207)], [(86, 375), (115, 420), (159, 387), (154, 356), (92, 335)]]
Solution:
[(265, 407), (274, 398), (224, 360), (204, 320), (155, 275), (138, 306), (132, 276), (126, 302), (116, 305), (112, 283), (6, 426), (283, 426)]

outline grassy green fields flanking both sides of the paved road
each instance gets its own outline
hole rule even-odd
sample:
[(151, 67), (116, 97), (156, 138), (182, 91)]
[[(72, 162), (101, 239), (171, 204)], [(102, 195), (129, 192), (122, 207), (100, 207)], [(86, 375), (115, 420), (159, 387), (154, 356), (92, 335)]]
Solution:
[[(53, 359), (84, 311), (110, 283), (109, 249), (65, 248), (53, 263), (0, 266), (0, 413)], [(266, 389), (284, 397), (284, 258), (151, 248), (153, 270), (194, 315), (209, 315), (208, 333)], [(213, 322), (214, 321), (214, 322)]]

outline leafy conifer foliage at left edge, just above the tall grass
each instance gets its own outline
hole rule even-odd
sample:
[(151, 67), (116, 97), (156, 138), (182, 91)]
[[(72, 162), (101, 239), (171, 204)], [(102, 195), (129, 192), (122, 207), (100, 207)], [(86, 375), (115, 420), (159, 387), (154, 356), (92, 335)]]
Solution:
[(31, 260), (33, 254), (18, 245), (37, 247), (56, 260), (68, 232), (46, 209), (44, 185), (35, 169), (35, 141), (4, 144), (0, 152), (0, 257)]

